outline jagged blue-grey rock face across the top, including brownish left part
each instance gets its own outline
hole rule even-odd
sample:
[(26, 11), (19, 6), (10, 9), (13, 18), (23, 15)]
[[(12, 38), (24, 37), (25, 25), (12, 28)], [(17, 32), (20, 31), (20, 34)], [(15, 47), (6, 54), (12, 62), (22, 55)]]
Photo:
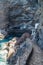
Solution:
[(6, 0), (1, 1), (1, 3), (0, 28), (10, 31), (9, 28), (15, 25), (34, 21), (34, 14), (37, 9), (36, 0)]

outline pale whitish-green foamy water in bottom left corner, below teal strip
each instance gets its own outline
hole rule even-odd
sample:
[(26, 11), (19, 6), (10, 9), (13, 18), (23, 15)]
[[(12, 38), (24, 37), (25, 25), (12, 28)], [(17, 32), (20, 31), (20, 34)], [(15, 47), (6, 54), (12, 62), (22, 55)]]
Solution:
[(4, 43), (0, 43), (0, 65), (8, 65), (7, 60), (5, 59), (6, 51), (2, 51)]

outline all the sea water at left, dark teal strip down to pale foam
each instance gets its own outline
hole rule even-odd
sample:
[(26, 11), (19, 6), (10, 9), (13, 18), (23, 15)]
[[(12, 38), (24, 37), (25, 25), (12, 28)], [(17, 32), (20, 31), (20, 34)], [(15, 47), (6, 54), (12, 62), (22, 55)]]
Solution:
[(0, 40), (0, 65), (8, 65), (7, 60), (4, 58), (7, 55), (7, 51), (6, 50), (2, 51), (2, 48), (4, 43), (11, 40), (13, 37), (14, 37), (13, 35), (10, 35), (8, 38)]

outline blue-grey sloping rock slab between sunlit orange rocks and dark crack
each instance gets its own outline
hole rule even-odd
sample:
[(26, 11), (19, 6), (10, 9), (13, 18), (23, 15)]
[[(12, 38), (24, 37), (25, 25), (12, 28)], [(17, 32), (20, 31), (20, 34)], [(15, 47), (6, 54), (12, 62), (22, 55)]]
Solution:
[(16, 55), (13, 55), (8, 61), (9, 65), (25, 65), (27, 58), (32, 52), (32, 42), (30, 39), (26, 39), (20, 46), (17, 48)]

